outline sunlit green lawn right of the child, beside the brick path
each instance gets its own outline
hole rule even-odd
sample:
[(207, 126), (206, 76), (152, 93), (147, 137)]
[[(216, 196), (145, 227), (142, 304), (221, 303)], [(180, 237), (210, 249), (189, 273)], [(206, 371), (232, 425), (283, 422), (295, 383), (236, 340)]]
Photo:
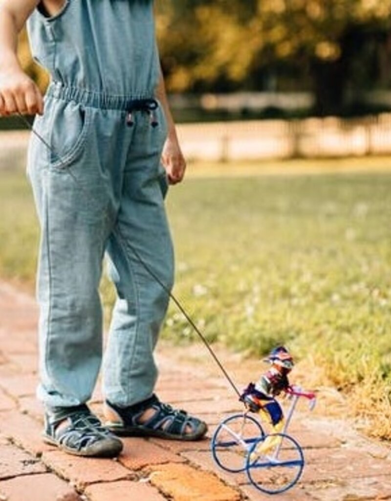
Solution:
[(285, 342), (350, 373), (390, 312), (390, 188), (388, 174), (190, 180), (169, 200), (176, 292), (211, 340), (256, 354)]

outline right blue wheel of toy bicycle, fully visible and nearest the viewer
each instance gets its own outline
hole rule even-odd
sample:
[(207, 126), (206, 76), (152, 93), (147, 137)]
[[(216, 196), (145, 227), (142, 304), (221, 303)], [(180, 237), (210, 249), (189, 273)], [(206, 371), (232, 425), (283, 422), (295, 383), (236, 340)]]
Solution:
[(262, 492), (279, 494), (300, 478), (304, 456), (300, 445), (284, 433), (272, 433), (257, 440), (246, 459), (250, 482)]

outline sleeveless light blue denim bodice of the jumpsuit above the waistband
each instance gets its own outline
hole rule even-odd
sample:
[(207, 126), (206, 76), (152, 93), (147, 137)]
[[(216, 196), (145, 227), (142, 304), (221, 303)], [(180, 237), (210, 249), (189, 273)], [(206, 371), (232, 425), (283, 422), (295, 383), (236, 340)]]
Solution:
[(35, 59), (53, 80), (109, 95), (150, 97), (159, 78), (153, 0), (67, 0), (28, 21)]

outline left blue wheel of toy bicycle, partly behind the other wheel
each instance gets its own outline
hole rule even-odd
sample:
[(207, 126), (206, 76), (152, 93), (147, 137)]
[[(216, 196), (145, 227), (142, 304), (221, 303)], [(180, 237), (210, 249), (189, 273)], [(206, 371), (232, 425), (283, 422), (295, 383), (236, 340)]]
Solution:
[(213, 434), (213, 458), (226, 471), (244, 471), (248, 451), (262, 436), (262, 426), (254, 417), (246, 413), (229, 416), (218, 425)]

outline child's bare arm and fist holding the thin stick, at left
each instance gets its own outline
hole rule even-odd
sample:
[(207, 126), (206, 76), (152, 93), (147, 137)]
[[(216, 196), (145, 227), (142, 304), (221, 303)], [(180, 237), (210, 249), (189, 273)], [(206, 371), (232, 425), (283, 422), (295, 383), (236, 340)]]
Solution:
[(43, 113), (36, 84), (22, 70), (18, 34), (40, 0), (0, 0), (0, 115)]

